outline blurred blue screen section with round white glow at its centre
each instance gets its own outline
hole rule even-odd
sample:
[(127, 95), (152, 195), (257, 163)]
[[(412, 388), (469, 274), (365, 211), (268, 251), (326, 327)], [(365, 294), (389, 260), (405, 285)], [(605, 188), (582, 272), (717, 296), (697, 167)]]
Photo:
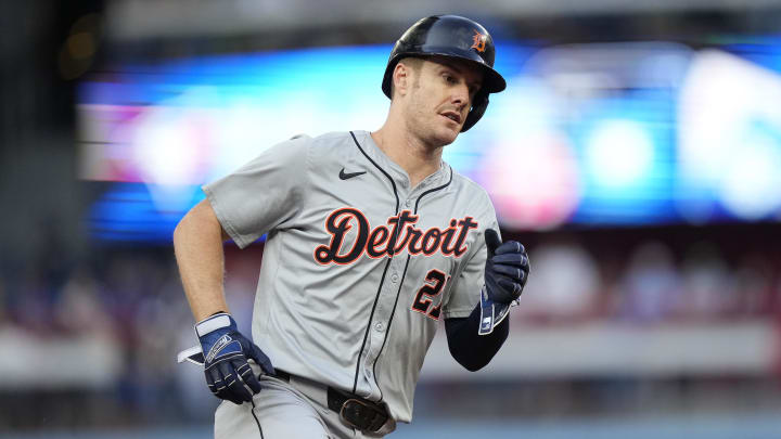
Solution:
[[(571, 127), (586, 169), (573, 222), (645, 224), (675, 219), (674, 117), (674, 95), (663, 89), (630, 91), (585, 109)], [(625, 144), (606, 144), (622, 141)]]

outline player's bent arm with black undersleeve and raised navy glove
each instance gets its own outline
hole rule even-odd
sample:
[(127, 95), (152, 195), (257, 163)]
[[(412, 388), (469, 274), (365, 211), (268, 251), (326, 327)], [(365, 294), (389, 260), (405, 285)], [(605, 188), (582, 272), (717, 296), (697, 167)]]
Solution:
[[(469, 371), (483, 369), (499, 348), (509, 333), (509, 319), (494, 326), (492, 332), (481, 331), (486, 308), (509, 307), (516, 300), (528, 279), (529, 262), (526, 249), (515, 241), (501, 243), (494, 230), (485, 233), (488, 257), (485, 266), (485, 287), (481, 292), (481, 301), (469, 318), (445, 320), (450, 354)], [(507, 312), (507, 309), (504, 309)]]

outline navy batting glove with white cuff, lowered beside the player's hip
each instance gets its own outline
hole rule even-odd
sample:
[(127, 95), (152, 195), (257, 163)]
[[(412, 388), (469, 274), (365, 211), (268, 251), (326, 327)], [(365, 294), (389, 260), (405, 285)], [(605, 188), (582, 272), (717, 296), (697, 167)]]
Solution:
[(203, 348), (206, 384), (219, 399), (241, 404), (252, 401), (253, 395), (260, 391), (248, 359), (265, 373), (274, 373), (269, 358), (236, 330), (235, 321), (226, 312), (199, 322), (195, 334)]

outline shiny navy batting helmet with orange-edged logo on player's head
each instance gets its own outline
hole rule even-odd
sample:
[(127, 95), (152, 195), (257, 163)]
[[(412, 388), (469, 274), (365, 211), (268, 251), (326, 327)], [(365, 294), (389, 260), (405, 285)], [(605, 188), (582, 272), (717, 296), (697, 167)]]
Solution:
[(494, 39), (479, 23), (458, 15), (435, 15), (418, 21), (396, 41), (390, 52), (382, 83), (385, 95), (392, 98), (392, 76), (399, 60), (428, 55), (466, 60), (483, 69), (483, 87), (461, 127), (462, 132), (469, 130), (488, 107), (488, 93), (497, 93), (507, 87), (504, 78), (494, 69)]

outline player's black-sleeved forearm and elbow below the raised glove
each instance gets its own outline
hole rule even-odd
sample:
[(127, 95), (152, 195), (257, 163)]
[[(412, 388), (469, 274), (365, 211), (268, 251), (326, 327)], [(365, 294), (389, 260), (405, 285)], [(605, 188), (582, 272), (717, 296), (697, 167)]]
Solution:
[(504, 319), (503, 322), (494, 327), (492, 333), (479, 335), (477, 334), (481, 323), (479, 305), (475, 307), (469, 318), (447, 319), (445, 321), (445, 331), (447, 332), (450, 354), (459, 364), (471, 372), (483, 369), (507, 340), (510, 334), (509, 320)]

